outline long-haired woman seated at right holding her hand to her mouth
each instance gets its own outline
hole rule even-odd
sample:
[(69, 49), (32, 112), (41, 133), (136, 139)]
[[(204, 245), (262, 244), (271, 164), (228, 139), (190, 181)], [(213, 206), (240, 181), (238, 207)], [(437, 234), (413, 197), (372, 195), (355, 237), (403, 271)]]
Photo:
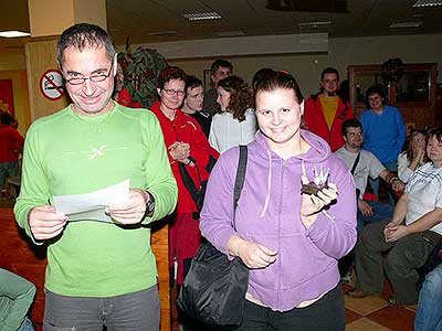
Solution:
[(407, 183), (413, 175), (414, 170), (429, 161), (425, 152), (425, 132), (412, 130), (408, 149), (398, 157), (398, 177)]

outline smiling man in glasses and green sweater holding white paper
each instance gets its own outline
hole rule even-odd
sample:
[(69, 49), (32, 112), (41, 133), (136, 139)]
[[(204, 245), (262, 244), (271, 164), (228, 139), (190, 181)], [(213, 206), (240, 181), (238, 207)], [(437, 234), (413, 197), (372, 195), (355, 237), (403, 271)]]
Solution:
[[(159, 329), (148, 224), (175, 210), (178, 191), (157, 118), (112, 100), (116, 61), (102, 28), (67, 28), (57, 62), (72, 104), (39, 118), (27, 134), (14, 213), (34, 244), (48, 245), (46, 331)], [(52, 205), (56, 195), (125, 180), (128, 199), (96, 211), (101, 220), (72, 222)]]

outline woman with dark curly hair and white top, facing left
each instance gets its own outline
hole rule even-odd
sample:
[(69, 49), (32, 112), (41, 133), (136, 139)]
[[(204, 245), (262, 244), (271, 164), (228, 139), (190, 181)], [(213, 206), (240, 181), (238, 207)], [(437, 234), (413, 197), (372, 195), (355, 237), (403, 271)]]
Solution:
[(244, 81), (230, 76), (218, 83), (219, 111), (213, 116), (209, 142), (219, 152), (251, 142), (256, 132), (252, 92)]

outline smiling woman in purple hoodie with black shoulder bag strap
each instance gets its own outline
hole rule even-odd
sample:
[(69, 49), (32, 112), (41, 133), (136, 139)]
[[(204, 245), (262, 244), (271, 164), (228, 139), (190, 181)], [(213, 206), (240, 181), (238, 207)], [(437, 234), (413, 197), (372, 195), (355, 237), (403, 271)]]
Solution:
[[(260, 131), (248, 146), (235, 228), (239, 148), (213, 168), (200, 223), (207, 239), (250, 268), (238, 330), (344, 331), (337, 259), (356, 242), (352, 177), (326, 141), (301, 129), (304, 102), (290, 74), (264, 75), (254, 94)], [(302, 193), (308, 184), (319, 190)]]

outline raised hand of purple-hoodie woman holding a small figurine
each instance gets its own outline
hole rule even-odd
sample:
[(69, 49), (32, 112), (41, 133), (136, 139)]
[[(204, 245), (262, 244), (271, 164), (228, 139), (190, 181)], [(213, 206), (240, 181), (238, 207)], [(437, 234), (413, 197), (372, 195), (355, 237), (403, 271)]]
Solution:
[[(305, 175), (301, 177), (303, 184), (308, 184)], [(301, 221), (306, 228), (309, 228), (316, 222), (318, 213), (338, 196), (336, 184), (328, 183), (328, 188), (324, 188), (314, 194), (302, 194), (301, 197)]]

